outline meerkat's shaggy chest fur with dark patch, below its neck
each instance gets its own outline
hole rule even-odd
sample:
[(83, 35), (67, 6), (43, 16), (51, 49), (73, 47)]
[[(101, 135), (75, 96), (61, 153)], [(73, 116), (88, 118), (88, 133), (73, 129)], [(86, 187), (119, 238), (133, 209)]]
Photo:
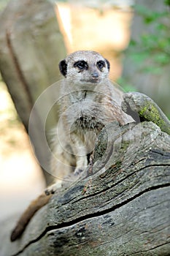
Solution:
[(101, 93), (82, 91), (69, 95), (66, 103), (63, 115), (71, 133), (82, 136), (92, 131), (97, 135), (108, 121), (112, 121), (112, 113), (108, 110), (110, 99)]

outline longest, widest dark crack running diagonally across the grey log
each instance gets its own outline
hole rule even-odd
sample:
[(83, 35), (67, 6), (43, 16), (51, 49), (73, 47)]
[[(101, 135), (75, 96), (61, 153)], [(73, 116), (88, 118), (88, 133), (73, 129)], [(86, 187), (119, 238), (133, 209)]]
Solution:
[[(144, 189), (142, 192), (139, 192), (138, 194), (134, 195), (134, 197), (128, 198), (127, 200), (123, 201), (122, 203), (118, 203), (117, 206), (112, 206), (111, 208), (107, 208), (105, 210), (101, 210), (98, 212), (95, 212), (93, 214), (86, 214), (85, 216), (82, 217), (78, 217), (77, 219), (74, 219), (72, 221), (69, 222), (63, 222), (61, 224), (58, 225), (51, 225), (49, 227), (46, 227), (45, 230), (35, 239), (33, 239), (32, 241), (30, 241), (28, 244), (26, 244), (23, 249), (20, 249), (19, 252), (17, 252), (14, 255), (11, 256), (18, 256), (20, 255), (28, 246), (30, 246), (31, 244), (36, 243), (37, 241), (39, 241), (43, 236), (45, 236), (47, 234), (47, 232), (52, 231), (52, 230), (59, 230), (63, 227), (70, 227), (72, 225), (77, 225), (78, 223), (84, 221), (84, 220), (88, 220), (88, 219), (92, 219), (95, 217), (101, 217), (104, 214), (109, 214), (112, 211), (115, 211), (117, 208), (120, 208), (122, 206), (125, 206), (127, 203), (130, 203), (132, 200), (135, 200), (136, 198), (144, 195), (144, 193), (150, 192), (151, 190), (156, 190), (156, 189), (163, 189), (165, 187), (170, 187), (170, 183), (167, 184), (161, 184), (161, 185), (157, 185), (157, 186), (153, 186), (153, 187), (149, 187), (147, 189)], [(168, 243), (167, 243), (168, 244)], [(161, 244), (162, 246), (162, 244)], [(156, 246), (158, 247), (158, 246)], [(155, 247), (155, 248), (156, 248)], [(139, 252), (138, 252), (139, 253)], [(135, 253), (136, 254), (136, 253)], [(134, 254), (134, 255), (135, 255)]]

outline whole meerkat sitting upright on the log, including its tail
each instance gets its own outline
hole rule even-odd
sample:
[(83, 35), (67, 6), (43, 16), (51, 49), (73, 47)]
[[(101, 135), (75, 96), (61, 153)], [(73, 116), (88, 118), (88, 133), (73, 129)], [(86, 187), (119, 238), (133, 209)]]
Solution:
[[(132, 118), (121, 109), (123, 92), (109, 80), (109, 61), (90, 50), (76, 51), (59, 64), (63, 75), (60, 88), (60, 118), (53, 143), (51, 169), (55, 175), (61, 165), (66, 173), (81, 173), (88, 165), (96, 136), (111, 121), (126, 124)], [(55, 192), (58, 184), (46, 189), (45, 203)], [(11, 240), (23, 233), (29, 219), (45, 205), (36, 199), (20, 218), (12, 231)], [(39, 207), (37, 207), (39, 204)]]

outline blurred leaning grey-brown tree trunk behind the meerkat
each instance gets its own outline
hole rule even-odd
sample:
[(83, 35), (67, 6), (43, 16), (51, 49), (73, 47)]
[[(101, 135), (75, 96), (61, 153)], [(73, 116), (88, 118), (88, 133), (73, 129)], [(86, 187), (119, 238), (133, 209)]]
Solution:
[[(61, 79), (58, 63), (66, 56), (63, 36), (54, 6), (48, 0), (10, 1), (0, 15), (0, 24), (1, 75), (28, 132), (36, 99)], [(32, 120), (35, 129), (31, 140), (39, 162), (49, 161), (42, 140), (42, 113), (50, 102), (52, 99), (46, 97)], [(53, 111), (48, 116), (47, 129), (55, 124), (56, 113)]]

